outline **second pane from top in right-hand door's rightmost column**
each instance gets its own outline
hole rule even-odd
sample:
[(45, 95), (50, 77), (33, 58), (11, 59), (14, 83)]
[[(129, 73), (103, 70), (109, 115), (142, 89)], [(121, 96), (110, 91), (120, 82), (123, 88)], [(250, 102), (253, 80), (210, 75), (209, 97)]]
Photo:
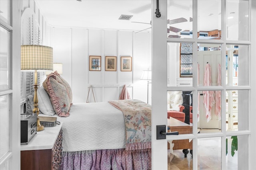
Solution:
[(226, 46), (226, 84), (248, 86), (248, 45)]

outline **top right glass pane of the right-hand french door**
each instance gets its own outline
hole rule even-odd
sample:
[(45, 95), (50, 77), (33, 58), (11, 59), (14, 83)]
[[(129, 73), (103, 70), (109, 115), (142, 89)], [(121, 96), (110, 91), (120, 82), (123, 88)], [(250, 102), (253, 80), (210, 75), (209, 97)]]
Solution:
[(248, 0), (227, 0), (227, 40), (248, 41)]

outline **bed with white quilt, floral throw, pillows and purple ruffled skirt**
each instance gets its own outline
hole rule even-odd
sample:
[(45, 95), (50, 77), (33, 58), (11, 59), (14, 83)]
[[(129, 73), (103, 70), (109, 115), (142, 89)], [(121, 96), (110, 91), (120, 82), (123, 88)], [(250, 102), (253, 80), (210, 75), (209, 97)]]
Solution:
[(140, 100), (72, 104), (70, 86), (54, 72), (38, 88), (38, 107), (40, 116), (63, 122), (63, 170), (151, 169), (149, 104)]

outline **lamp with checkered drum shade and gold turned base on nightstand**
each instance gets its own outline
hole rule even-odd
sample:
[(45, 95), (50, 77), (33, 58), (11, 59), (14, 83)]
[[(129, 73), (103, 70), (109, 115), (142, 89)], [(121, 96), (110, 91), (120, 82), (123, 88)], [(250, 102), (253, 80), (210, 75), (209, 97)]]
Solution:
[[(52, 47), (43, 45), (22, 45), (20, 51), (21, 70), (34, 72), (34, 109), (33, 113), (39, 114), (37, 89), (37, 72), (45, 72), (53, 68), (53, 54)], [(44, 126), (40, 124), (37, 118), (37, 131), (43, 131)]]

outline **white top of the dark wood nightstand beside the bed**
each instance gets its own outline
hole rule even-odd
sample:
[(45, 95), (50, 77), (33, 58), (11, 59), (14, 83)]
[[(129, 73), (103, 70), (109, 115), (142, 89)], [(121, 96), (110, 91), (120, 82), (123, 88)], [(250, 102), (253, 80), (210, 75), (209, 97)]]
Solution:
[(20, 150), (52, 149), (61, 127), (62, 122), (54, 127), (44, 127), (44, 131), (37, 132), (28, 142), (28, 145), (20, 145)]

